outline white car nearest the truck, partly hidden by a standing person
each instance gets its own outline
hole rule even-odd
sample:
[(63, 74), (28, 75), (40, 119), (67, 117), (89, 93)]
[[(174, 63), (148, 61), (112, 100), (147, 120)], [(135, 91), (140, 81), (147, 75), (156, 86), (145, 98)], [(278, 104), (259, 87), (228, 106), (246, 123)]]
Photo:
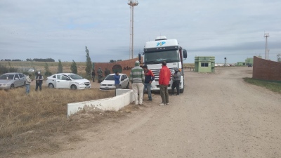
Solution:
[[(115, 74), (109, 74), (105, 79), (100, 83), (100, 90), (114, 90), (115, 87)], [(120, 74), (120, 86), (121, 88), (129, 88), (129, 77), (126, 74)]]

